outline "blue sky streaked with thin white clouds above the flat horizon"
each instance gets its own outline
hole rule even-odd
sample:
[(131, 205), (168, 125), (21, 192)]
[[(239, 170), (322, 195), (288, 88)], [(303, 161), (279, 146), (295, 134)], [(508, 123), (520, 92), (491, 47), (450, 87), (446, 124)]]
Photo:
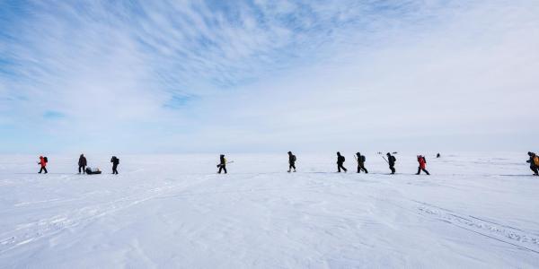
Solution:
[(1, 1), (0, 152), (522, 151), (536, 1)]

